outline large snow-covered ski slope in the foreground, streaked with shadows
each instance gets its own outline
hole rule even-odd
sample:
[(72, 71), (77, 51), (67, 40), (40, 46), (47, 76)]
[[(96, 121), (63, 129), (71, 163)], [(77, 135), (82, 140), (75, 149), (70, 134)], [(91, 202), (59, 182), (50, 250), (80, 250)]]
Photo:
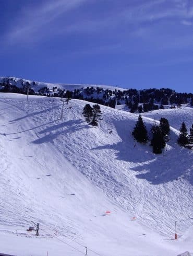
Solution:
[[(193, 157), (176, 145), (175, 125), (157, 156), (131, 136), (137, 115), (101, 106), (103, 120), (91, 127), (82, 116), (86, 103), (71, 100), (59, 120), (58, 98), (29, 96), (26, 103), (24, 95), (0, 94), (2, 252), (74, 256), (85, 254), (83, 246), (89, 256), (193, 251), (191, 221), (179, 222), (193, 217)], [(192, 117), (192, 109), (186, 112)], [(144, 122), (150, 130), (154, 120)], [(31, 220), (40, 223), (38, 238), (25, 231)], [(171, 240), (175, 220), (178, 241)]]

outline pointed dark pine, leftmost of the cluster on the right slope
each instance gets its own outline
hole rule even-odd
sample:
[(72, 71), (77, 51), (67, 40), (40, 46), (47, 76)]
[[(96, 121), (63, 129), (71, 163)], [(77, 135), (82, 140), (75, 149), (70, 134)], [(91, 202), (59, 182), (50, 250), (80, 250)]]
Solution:
[(148, 141), (148, 132), (146, 126), (143, 123), (141, 115), (139, 115), (138, 117), (138, 121), (134, 128), (134, 131), (132, 132), (132, 135), (134, 136), (137, 142), (147, 143)]

